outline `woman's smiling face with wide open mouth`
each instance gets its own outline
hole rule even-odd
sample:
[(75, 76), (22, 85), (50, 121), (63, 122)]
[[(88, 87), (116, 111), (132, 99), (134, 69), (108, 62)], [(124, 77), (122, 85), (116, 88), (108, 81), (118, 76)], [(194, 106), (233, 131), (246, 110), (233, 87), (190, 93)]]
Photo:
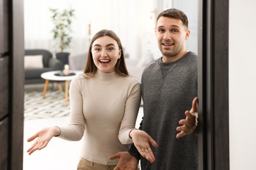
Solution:
[(109, 36), (96, 39), (91, 49), (93, 62), (98, 71), (112, 73), (115, 71), (117, 59), (121, 57), (121, 50), (117, 42)]

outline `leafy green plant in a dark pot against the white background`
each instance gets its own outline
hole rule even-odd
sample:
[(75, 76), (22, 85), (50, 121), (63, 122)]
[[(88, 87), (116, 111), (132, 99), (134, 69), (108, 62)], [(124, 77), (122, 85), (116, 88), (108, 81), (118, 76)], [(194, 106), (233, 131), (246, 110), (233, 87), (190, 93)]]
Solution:
[(56, 53), (56, 58), (60, 59), (64, 64), (68, 64), (69, 52), (64, 52), (64, 49), (70, 46), (72, 41), (72, 18), (74, 18), (74, 9), (58, 10), (50, 9), (52, 12), (51, 19), (54, 27), (52, 30), (53, 39), (56, 41), (60, 52)]

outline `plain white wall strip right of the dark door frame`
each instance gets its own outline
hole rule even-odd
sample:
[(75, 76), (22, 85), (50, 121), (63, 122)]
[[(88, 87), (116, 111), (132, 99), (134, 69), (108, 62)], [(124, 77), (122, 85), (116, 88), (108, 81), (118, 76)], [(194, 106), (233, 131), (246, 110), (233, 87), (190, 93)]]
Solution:
[(229, 0), (230, 169), (256, 169), (255, 0)]

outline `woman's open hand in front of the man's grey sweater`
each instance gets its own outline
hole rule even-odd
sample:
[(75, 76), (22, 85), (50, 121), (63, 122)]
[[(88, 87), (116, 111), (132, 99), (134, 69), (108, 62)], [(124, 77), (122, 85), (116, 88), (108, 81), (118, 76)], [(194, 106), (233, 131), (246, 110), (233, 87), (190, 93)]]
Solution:
[(150, 148), (150, 143), (154, 146), (157, 147), (158, 144), (156, 141), (146, 133), (146, 131), (142, 131), (139, 129), (133, 129), (130, 132), (130, 136), (133, 139), (133, 143), (137, 150), (140, 152), (140, 155), (146, 158), (150, 163), (155, 161), (155, 156)]

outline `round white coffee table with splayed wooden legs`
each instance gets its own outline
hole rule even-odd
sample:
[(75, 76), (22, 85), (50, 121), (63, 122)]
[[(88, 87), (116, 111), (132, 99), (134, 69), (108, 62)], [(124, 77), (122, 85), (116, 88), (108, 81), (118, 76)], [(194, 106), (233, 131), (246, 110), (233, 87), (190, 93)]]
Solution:
[[(45, 93), (47, 92), (49, 80), (53, 81), (65, 81), (65, 104), (68, 105), (68, 86), (70, 80), (72, 80), (76, 75), (83, 73), (83, 71), (70, 71), (70, 75), (62, 75), (62, 71), (47, 71), (41, 74), (41, 78), (45, 79), (45, 86), (43, 88), (43, 99), (45, 98)], [(62, 86), (58, 83), (58, 88), (62, 91)]]

